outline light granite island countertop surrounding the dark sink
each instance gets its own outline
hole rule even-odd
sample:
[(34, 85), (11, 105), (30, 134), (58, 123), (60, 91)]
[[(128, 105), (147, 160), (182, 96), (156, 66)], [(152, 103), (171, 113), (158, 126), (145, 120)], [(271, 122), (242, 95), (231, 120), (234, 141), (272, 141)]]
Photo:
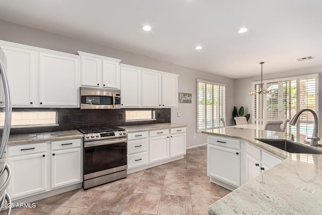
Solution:
[(288, 139), (283, 132), (226, 127), (203, 133), (244, 139), (285, 159), (210, 205), (209, 214), (321, 213), (322, 155), (292, 154), (255, 139)]

